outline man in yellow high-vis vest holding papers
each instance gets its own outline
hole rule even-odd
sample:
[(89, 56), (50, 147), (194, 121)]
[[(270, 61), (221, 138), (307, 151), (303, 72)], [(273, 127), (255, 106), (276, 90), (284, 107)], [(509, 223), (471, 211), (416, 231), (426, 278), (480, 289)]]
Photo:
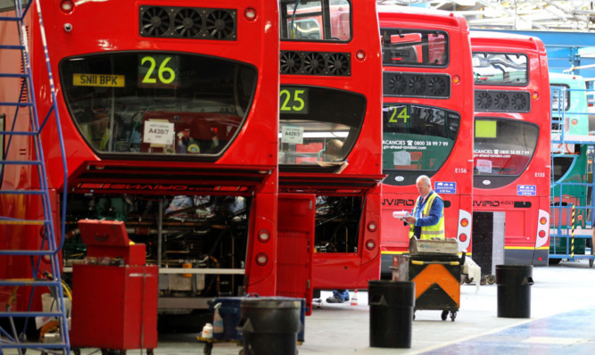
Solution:
[(409, 223), (409, 239), (444, 239), (444, 202), (432, 190), (430, 177), (421, 175), (416, 180), (419, 197), (411, 216), (404, 218)]

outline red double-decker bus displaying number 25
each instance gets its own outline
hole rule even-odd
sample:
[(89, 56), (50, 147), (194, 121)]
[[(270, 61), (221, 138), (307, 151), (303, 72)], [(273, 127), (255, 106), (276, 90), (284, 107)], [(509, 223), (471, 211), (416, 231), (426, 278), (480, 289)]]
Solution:
[(380, 262), (376, 2), (280, 5), (279, 191), (315, 205), (313, 287), (365, 289)]

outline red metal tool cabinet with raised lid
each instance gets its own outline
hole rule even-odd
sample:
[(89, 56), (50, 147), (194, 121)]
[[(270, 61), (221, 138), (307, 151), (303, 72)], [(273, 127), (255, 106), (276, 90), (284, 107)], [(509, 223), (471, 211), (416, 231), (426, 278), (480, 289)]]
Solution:
[(87, 264), (72, 269), (71, 346), (156, 348), (159, 268), (142, 265), (145, 245), (130, 244), (122, 222), (85, 220), (79, 228)]

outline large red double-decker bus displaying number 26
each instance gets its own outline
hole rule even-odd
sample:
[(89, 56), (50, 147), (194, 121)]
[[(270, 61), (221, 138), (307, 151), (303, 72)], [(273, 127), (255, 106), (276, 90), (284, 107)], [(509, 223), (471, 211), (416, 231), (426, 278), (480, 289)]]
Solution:
[[(67, 204), (65, 265), (85, 256), (79, 219), (121, 220), (160, 267), (161, 310), (275, 294), (278, 4), (64, 0), (41, 10), (69, 168), (68, 201), (62, 171), (48, 169), (56, 205)], [(45, 65), (39, 37), (33, 28), (32, 62)], [(37, 67), (34, 78), (43, 108), (49, 80)], [(45, 128), (50, 167), (62, 166), (55, 132)], [(29, 184), (10, 167), (2, 177)]]

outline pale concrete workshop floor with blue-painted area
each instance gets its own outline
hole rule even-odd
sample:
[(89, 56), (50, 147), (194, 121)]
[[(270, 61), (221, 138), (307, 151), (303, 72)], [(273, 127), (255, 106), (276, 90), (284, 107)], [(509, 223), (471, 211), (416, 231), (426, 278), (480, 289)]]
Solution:
[[(323, 301), (306, 318), (300, 355), (309, 354), (592, 354), (595, 352), (595, 268), (587, 260), (533, 268), (531, 318), (498, 318), (497, 285), (461, 285), (455, 321), (440, 310), (417, 310), (409, 349), (369, 346), (368, 293), (357, 306)], [(322, 293), (322, 299), (331, 293)], [(353, 293), (351, 292), (351, 295)], [(202, 354), (197, 334), (160, 334), (155, 354)], [(215, 343), (212, 354), (236, 355), (236, 343)], [(84, 351), (84, 353), (87, 351)], [(140, 351), (128, 351), (136, 354)]]

